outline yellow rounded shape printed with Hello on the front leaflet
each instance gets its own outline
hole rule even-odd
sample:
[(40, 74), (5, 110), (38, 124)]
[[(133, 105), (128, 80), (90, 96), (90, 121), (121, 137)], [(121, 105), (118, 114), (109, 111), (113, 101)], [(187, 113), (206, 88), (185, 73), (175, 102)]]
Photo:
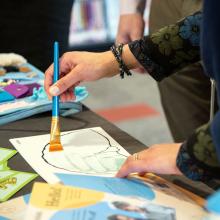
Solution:
[(36, 183), (30, 204), (42, 209), (62, 210), (94, 205), (104, 198), (103, 192), (61, 184)]

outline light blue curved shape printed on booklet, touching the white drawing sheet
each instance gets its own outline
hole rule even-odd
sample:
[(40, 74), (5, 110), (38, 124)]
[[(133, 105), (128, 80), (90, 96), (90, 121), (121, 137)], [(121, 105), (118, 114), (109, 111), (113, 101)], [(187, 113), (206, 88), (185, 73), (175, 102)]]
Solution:
[(65, 185), (88, 188), (121, 196), (138, 196), (147, 200), (153, 200), (155, 198), (153, 190), (140, 181), (87, 175), (56, 175)]

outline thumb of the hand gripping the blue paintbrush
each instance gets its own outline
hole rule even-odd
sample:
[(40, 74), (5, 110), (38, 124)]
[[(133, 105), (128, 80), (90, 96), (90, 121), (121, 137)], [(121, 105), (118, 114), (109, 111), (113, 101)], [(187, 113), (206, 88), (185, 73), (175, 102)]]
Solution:
[(73, 85), (80, 81), (79, 74), (77, 74), (77, 68), (71, 70), (67, 75), (63, 76), (55, 84), (49, 88), (49, 93), (52, 96), (58, 96), (68, 90)]

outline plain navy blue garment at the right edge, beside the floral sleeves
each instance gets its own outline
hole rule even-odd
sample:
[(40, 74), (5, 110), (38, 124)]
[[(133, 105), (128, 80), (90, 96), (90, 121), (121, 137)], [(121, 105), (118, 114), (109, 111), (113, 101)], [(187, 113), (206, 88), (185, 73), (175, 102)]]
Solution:
[[(216, 81), (220, 106), (220, 1), (205, 0), (202, 21), (202, 58), (206, 73)], [(220, 111), (211, 124), (211, 135), (220, 161)]]

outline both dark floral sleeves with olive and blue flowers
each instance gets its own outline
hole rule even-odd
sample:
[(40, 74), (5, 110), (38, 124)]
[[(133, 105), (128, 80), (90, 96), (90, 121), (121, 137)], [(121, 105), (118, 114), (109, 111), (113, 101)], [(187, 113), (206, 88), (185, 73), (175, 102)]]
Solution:
[[(200, 22), (197, 12), (174, 25), (131, 42), (129, 48), (139, 63), (157, 81), (200, 60)], [(177, 166), (190, 179), (220, 179), (220, 162), (213, 144), (210, 125), (198, 128), (178, 153)]]

